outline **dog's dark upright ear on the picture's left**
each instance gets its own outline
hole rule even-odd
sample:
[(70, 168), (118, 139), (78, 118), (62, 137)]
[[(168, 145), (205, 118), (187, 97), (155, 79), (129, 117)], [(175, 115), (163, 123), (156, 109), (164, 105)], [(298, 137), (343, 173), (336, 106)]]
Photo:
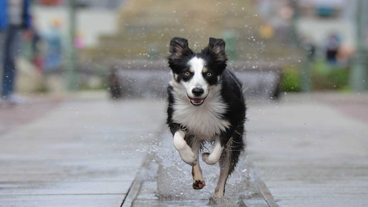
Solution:
[(175, 37), (170, 41), (170, 55), (167, 59), (180, 59), (185, 55), (190, 55), (193, 51), (188, 46), (188, 40), (180, 37)]

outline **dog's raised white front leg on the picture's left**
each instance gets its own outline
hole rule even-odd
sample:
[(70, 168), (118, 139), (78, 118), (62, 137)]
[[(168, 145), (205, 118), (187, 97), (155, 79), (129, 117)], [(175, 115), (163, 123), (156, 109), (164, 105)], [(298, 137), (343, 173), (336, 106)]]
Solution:
[(174, 134), (174, 147), (179, 152), (180, 158), (187, 164), (194, 166), (197, 164), (198, 156), (195, 155), (192, 149), (188, 146), (184, 140), (185, 131), (178, 130)]

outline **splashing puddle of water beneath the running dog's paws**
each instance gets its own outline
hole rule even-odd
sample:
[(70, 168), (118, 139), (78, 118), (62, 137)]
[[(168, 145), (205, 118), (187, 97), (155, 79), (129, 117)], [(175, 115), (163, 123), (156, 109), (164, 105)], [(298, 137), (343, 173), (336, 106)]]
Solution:
[[(207, 165), (200, 157), (206, 186), (201, 190), (194, 190), (191, 166), (180, 159), (172, 139), (169, 133), (164, 133), (162, 141), (151, 145), (148, 150), (152, 159), (148, 175), (157, 182), (156, 196), (169, 200), (208, 200), (215, 191), (220, 173), (219, 165)], [(209, 145), (207, 148), (210, 150), (212, 146)], [(229, 201), (238, 201), (239, 197), (247, 199), (260, 196), (252, 180), (245, 155), (240, 158), (237, 168), (227, 179), (225, 189), (225, 196)], [(229, 203), (227, 206), (232, 205)]]

